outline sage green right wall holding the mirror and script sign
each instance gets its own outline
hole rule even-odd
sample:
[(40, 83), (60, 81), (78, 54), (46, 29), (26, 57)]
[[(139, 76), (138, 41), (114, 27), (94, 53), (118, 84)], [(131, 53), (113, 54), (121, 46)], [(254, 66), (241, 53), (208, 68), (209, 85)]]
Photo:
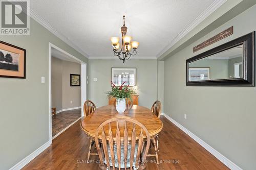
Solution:
[[(186, 86), (186, 59), (255, 31), (255, 14), (256, 5), (164, 61), (164, 112), (243, 169), (256, 167), (256, 88)], [(230, 26), (233, 35), (193, 53)]]

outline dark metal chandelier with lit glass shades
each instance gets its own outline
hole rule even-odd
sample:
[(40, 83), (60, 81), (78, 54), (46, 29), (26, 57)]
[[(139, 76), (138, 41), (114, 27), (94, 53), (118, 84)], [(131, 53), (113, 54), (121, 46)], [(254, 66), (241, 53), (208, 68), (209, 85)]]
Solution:
[[(128, 60), (131, 56), (135, 56), (137, 54), (136, 49), (139, 46), (138, 41), (131, 41), (132, 37), (129, 35), (126, 35), (127, 33), (127, 27), (125, 27), (125, 15), (123, 15), (123, 27), (121, 27), (121, 33), (122, 33), (122, 43), (121, 46), (119, 44), (119, 37), (111, 37), (111, 43), (113, 46), (114, 56), (118, 56), (120, 60), (124, 61)], [(120, 50), (119, 50), (119, 47)], [(132, 52), (131, 52), (132, 50)]]

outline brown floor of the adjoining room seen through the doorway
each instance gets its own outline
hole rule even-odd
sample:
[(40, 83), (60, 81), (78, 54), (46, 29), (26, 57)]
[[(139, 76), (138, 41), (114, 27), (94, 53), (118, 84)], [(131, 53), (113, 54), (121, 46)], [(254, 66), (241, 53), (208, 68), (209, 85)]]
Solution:
[(74, 109), (60, 112), (52, 116), (52, 136), (55, 136), (60, 131), (68, 127), (81, 117), (81, 109)]

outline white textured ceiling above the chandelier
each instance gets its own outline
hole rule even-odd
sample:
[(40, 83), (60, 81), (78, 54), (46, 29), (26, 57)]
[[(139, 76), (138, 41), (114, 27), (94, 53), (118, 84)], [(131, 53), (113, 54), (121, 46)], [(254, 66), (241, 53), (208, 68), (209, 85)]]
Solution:
[(30, 8), (89, 57), (112, 57), (110, 37), (139, 41), (139, 57), (156, 57), (215, 0), (33, 0)]

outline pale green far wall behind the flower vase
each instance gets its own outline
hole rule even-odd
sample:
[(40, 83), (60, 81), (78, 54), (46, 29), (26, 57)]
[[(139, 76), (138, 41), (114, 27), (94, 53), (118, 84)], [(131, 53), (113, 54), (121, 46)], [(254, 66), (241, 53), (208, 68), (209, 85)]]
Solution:
[[(157, 60), (130, 59), (123, 63), (119, 59), (89, 60), (89, 99), (97, 107), (108, 105), (106, 91), (111, 90), (111, 67), (136, 67), (136, 85), (139, 105), (151, 108), (157, 99)], [(98, 81), (93, 81), (97, 78)]]

